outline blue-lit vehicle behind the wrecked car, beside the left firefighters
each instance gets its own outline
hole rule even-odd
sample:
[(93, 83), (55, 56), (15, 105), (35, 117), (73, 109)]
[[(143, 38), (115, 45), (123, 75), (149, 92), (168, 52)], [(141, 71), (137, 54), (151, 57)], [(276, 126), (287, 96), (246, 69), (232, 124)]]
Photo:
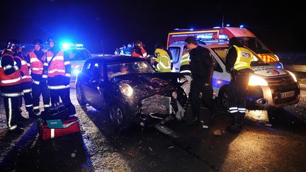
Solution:
[(89, 50), (84, 48), (83, 44), (64, 42), (62, 43), (62, 49), (69, 55), (70, 64), (72, 67), (70, 79), (71, 81), (75, 81), (77, 75), (83, 67), (85, 60), (91, 58), (91, 53)]

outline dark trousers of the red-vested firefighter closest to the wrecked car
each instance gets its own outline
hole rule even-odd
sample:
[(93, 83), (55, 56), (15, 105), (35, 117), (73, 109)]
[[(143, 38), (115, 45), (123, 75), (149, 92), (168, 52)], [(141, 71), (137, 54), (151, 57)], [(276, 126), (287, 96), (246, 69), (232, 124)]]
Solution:
[(72, 101), (70, 100), (70, 88), (62, 88), (62, 89), (50, 89), (51, 103), (52, 105), (59, 103), (60, 98), (62, 99), (62, 103), (67, 104), (69, 106), (70, 114), (76, 114), (76, 110)]

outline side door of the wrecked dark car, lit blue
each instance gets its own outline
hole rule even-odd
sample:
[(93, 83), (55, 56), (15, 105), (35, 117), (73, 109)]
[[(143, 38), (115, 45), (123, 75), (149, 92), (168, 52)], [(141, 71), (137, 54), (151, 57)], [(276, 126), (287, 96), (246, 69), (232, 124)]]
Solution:
[(91, 102), (94, 108), (105, 108), (105, 100), (103, 97), (104, 91), (104, 67), (101, 62), (95, 62), (91, 67), (92, 78), (86, 84), (87, 87), (87, 100)]

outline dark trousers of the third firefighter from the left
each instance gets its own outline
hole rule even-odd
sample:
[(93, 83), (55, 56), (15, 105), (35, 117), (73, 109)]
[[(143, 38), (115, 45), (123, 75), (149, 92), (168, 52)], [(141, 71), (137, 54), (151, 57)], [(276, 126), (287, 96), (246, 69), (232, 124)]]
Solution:
[[(32, 84), (32, 96), (33, 96), (33, 107), (39, 107), (40, 105), (40, 94), (42, 95), (42, 102), (44, 108), (48, 108), (50, 105), (50, 93), (47, 88), (46, 81), (33, 82)], [(39, 108), (38, 108), (39, 109)]]

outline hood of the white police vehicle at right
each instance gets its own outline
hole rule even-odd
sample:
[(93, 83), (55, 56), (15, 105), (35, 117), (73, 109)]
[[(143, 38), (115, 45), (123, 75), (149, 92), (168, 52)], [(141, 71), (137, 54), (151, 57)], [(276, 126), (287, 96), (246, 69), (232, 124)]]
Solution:
[(259, 66), (259, 67), (252, 67), (255, 74), (261, 75), (261, 76), (280, 76), (280, 75), (286, 75), (288, 74), (283, 69), (276, 69), (275, 67), (271, 66)]

